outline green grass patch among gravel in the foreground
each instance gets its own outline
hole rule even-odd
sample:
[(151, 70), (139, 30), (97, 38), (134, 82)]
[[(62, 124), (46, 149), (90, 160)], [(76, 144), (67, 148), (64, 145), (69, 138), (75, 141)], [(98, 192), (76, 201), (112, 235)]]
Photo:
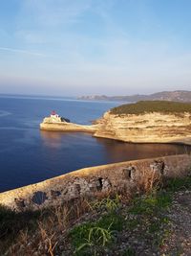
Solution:
[[(109, 200), (112, 200), (111, 198)], [(115, 201), (115, 199), (113, 199)], [(160, 245), (164, 239), (163, 227), (169, 223), (164, 210), (171, 206), (171, 193), (154, 190), (149, 195), (134, 198), (126, 212), (120, 212), (120, 202), (117, 208), (107, 209), (107, 214), (98, 220), (88, 221), (74, 226), (70, 232), (71, 242), (76, 255), (104, 255), (104, 250), (111, 250), (116, 245), (115, 234), (133, 232), (138, 229), (154, 244)], [(106, 204), (103, 199), (96, 204), (101, 207)], [(133, 216), (133, 217), (132, 217)], [(135, 248), (125, 249), (122, 255), (135, 255)]]

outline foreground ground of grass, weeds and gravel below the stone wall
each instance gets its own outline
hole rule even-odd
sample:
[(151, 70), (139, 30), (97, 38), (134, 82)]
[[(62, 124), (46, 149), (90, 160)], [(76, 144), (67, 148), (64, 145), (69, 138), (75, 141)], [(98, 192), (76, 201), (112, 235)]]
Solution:
[[(134, 256), (146, 251), (147, 255), (162, 255), (168, 252), (166, 244), (173, 237), (173, 209), (183, 195), (185, 203), (177, 213), (181, 217), (189, 210), (190, 189), (191, 176), (187, 175), (169, 178), (162, 184), (152, 182), (144, 190), (146, 194), (139, 192), (131, 199), (124, 199), (124, 191), (42, 212), (15, 213), (2, 206), (0, 254)], [(175, 200), (179, 193), (180, 198)]]

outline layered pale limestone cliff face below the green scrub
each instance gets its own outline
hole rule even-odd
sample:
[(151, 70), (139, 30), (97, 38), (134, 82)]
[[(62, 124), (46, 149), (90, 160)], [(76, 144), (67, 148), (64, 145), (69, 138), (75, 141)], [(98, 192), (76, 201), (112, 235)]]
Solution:
[(135, 143), (185, 143), (191, 145), (191, 113), (114, 114), (97, 120), (96, 137)]

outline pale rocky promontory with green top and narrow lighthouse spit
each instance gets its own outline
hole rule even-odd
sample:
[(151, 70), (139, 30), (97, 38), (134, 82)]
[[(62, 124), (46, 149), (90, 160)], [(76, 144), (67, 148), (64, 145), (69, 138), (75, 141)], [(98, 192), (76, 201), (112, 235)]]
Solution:
[(91, 132), (96, 137), (131, 143), (191, 145), (191, 103), (141, 101), (107, 111), (95, 125), (82, 126), (45, 118), (41, 129)]

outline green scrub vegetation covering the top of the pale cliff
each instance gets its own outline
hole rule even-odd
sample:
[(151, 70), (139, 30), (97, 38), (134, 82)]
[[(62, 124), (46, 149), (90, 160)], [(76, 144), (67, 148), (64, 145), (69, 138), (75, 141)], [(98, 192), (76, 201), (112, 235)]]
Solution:
[(111, 109), (112, 114), (143, 114), (146, 112), (191, 113), (191, 103), (141, 101), (136, 104), (119, 105)]

